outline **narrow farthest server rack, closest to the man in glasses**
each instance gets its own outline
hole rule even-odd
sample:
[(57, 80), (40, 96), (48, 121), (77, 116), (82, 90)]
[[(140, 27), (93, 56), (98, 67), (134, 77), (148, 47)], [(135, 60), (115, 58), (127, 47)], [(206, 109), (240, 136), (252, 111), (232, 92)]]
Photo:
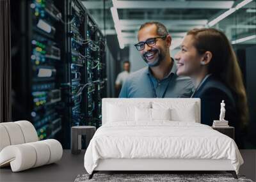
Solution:
[(88, 125), (98, 128), (101, 126), (101, 98), (106, 97), (105, 38), (90, 14), (87, 15), (86, 40), (89, 43), (86, 47), (86, 63), (87, 70), (92, 75), (87, 81), (92, 82), (94, 92), (90, 94), (88, 90), (86, 94), (87, 100), (93, 101), (88, 102), (89, 106), (92, 103), (93, 110), (91, 107), (86, 108), (86, 113), (90, 114), (86, 120)]

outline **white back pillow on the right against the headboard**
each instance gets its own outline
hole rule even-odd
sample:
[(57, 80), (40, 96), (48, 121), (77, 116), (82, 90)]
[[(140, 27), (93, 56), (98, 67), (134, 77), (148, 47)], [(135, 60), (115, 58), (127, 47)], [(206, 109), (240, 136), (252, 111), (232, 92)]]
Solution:
[(196, 122), (198, 121), (198, 108), (196, 103), (188, 102), (152, 102), (153, 109), (170, 108), (172, 121)]

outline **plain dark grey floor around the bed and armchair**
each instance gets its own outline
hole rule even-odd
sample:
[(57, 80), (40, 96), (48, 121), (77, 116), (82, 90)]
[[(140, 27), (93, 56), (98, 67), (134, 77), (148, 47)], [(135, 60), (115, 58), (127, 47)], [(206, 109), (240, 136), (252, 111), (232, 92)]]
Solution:
[[(244, 164), (239, 173), (256, 180), (256, 150), (241, 150)], [(83, 166), (84, 152), (71, 155), (70, 150), (64, 150), (58, 163), (45, 165), (23, 172), (12, 172), (10, 167), (0, 169), (0, 181), (74, 181), (78, 174), (85, 173)]]

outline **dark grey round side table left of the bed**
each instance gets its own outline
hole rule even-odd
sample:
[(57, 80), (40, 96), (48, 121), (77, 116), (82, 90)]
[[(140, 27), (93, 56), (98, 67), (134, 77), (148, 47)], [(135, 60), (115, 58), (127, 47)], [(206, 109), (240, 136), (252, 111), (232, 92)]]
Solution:
[(81, 135), (86, 135), (86, 148), (96, 131), (95, 126), (72, 126), (71, 128), (71, 153), (81, 153)]

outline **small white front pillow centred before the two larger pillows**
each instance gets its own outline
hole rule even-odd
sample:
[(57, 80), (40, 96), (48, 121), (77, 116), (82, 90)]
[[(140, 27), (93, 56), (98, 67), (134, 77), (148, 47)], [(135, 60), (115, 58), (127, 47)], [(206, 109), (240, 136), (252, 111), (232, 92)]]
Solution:
[(135, 108), (136, 121), (170, 120), (170, 109)]

